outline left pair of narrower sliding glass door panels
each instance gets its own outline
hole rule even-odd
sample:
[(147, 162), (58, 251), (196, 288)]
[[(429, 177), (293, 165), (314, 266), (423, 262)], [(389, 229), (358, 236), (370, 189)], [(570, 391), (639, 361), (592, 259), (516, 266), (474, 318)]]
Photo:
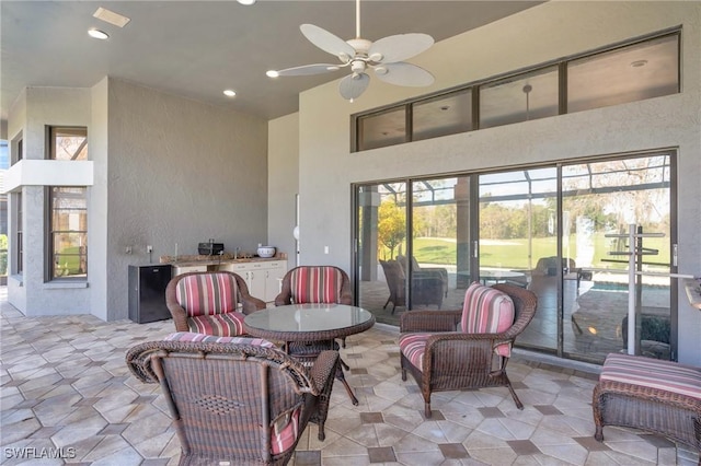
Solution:
[(471, 280), (469, 177), (356, 187), (357, 302), (399, 325), (407, 308), (461, 308)]

